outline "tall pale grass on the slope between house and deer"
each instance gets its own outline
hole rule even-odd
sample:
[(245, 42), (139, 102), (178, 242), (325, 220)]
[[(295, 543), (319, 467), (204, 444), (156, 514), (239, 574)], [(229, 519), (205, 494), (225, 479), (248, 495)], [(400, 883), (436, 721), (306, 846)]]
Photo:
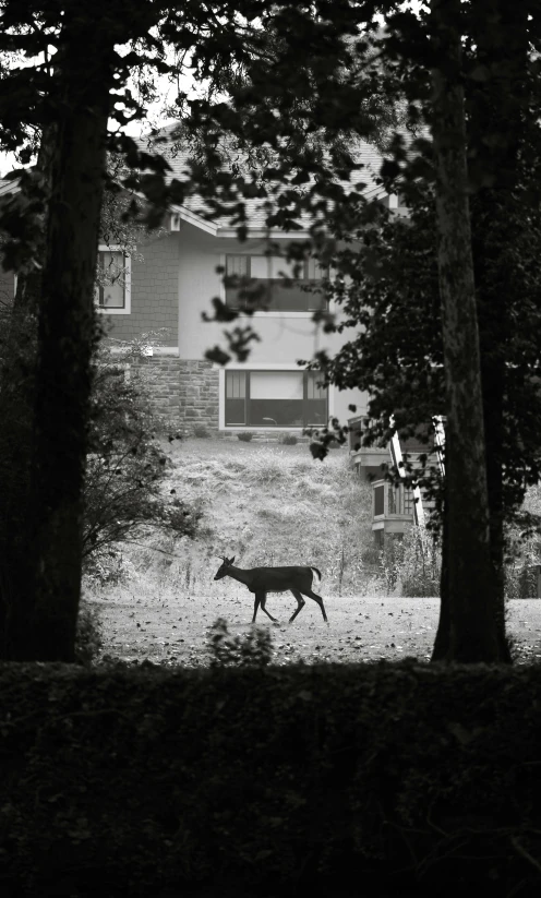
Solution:
[[(220, 555), (235, 555), (241, 567), (314, 565), (326, 595), (370, 590), (377, 567), (371, 488), (350, 470), (346, 453), (333, 453), (322, 464), (302, 444), (188, 440), (171, 452), (171, 460), (164, 488), (199, 504), (201, 532), (194, 540), (157, 536), (145, 548), (125, 547), (130, 592), (135, 587), (148, 599), (208, 595)], [(219, 588), (230, 595), (244, 589), (230, 579), (220, 580)]]

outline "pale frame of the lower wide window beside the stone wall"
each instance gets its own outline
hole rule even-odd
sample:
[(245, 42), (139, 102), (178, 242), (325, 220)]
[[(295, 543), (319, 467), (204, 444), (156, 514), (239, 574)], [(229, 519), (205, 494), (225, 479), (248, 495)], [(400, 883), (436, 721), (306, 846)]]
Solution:
[[(302, 418), (303, 418), (303, 422), (301, 424), (291, 424), (291, 426), (288, 426), (288, 424), (267, 424), (267, 426), (263, 426), (263, 424), (251, 423), (251, 416), (250, 416), (250, 402), (251, 402), (250, 375), (251, 374), (269, 374), (269, 375), (272, 375), (272, 374), (279, 374), (280, 372), (302, 374)], [(228, 375), (228, 373), (230, 373), (230, 374), (244, 374), (245, 375), (244, 387), (243, 387), (244, 396), (242, 396), (242, 397), (232, 397), (232, 398), (243, 399), (244, 400), (244, 416), (243, 416), (244, 417), (244, 423), (240, 423), (240, 422), (227, 423), (227, 418), (228, 418), (228, 416), (227, 416), (227, 402), (228, 402), (228, 396), (227, 396), (228, 378), (227, 378), (227, 375)], [(321, 374), (321, 372), (318, 372), (318, 371), (311, 371), (311, 370), (302, 369), (302, 368), (300, 368), (300, 369), (299, 368), (291, 368), (290, 364), (289, 366), (288, 364), (280, 364), (280, 366), (276, 364), (276, 366), (273, 366), (273, 367), (263, 367), (263, 368), (257, 368), (257, 367), (253, 367), (253, 368), (248, 368), (248, 367), (247, 368), (232, 368), (231, 367), (231, 368), (229, 368), (228, 367), (226, 369), (221, 369), (220, 378), (223, 380), (221, 380), (221, 383), (220, 383), (220, 404), (219, 404), (220, 405), (220, 422), (219, 422), (220, 430), (236, 431), (236, 430), (239, 430), (239, 429), (247, 429), (247, 430), (276, 432), (276, 431), (280, 431), (280, 430), (281, 431), (288, 431), (288, 430), (298, 431), (298, 430), (302, 430), (303, 428), (308, 428), (308, 427), (312, 427), (312, 428), (326, 427), (326, 424), (328, 422), (328, 419), (333, 416), (333, 408), (332, 408), (332, 406), (333, 406), (333, 400), (332, 400), (333, 399), (333, 394), (332, 394), (332, 391), (329, 390), (329, 387), (327, 386), (326, 387), (326, 396), (325, 396), (325, 399), (326, 399), (325, 421), (323, 423), (322, 422), (310, 421), (308, 419), (308, 416), (305, 415), (305, 411), (308, 410), (308, 407), (309, 407), (308, 403), (311, 402), (309, 396), (308, 396), (310, 375), (323, 376), (323, 374)]]

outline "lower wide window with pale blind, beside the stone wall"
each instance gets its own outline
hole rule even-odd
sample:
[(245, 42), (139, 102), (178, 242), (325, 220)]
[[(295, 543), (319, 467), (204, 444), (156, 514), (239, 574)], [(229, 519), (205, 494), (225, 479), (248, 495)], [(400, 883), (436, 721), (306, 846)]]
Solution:
[(317, 371), (226, 371), (226, 427), (325, 427)]

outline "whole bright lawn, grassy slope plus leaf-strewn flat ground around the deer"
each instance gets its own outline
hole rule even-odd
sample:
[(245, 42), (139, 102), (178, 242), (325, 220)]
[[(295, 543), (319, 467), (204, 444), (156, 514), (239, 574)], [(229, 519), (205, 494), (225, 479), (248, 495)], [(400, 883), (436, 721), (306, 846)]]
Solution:
[[(313, 564), (329, 623), (310, 599), (292, 624), (290, 594), (269, 595), (257, 625), (270, 631), (274, 662), (428, 659), (438, 600), (386, 595), (371, 532), (371, 493), (344, 450), (314, 462), (305, 444), (185, 440), (168, 445), (166, 490), (202, 511), (195, 540), (155, 535), (123, 548), (124, 582), (88, 586), (99, 609), (106, 654), (169, 664), (207, 662), (207, 631), (217, 618), (248, 633), (253, 598), (231, 579), (214, 582), (219, 555), (242, 567)], [(541, 657), (541, 601), (508, 603), (517, 660)]]

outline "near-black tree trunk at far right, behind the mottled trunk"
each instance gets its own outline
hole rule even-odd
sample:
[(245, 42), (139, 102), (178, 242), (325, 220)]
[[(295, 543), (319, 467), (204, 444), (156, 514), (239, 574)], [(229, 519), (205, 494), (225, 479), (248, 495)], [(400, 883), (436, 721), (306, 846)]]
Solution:
[[(505, 501), (503, 458), (504, 409), (508, 397), (506, 348), (512, 336), (517, 277), (521, 279), (520, 250), (528, 228), (522, 202), (521, 155), (527, 144), (528, 0), (494, 0), (491, 21), (477, 7), (471, 9), (470, 32), (476, 46), (476, 64), (490, 77), (474, 81), (469, 97), (469, 143), (476, 147), (471, 204), (473, 262), (478, 284), (478, 314), (481, 344), (481, 376), (486, 439), (486, 472), (491, 513), (491, 561), (494, 606), (502, 660), (510, 662), (505, 634)], [(526, 103), (525, 103), (526, 100)], [(485, 179), (488, 178), (488, 183)], [(479, 183), (480, 182), (480, 183)]]

